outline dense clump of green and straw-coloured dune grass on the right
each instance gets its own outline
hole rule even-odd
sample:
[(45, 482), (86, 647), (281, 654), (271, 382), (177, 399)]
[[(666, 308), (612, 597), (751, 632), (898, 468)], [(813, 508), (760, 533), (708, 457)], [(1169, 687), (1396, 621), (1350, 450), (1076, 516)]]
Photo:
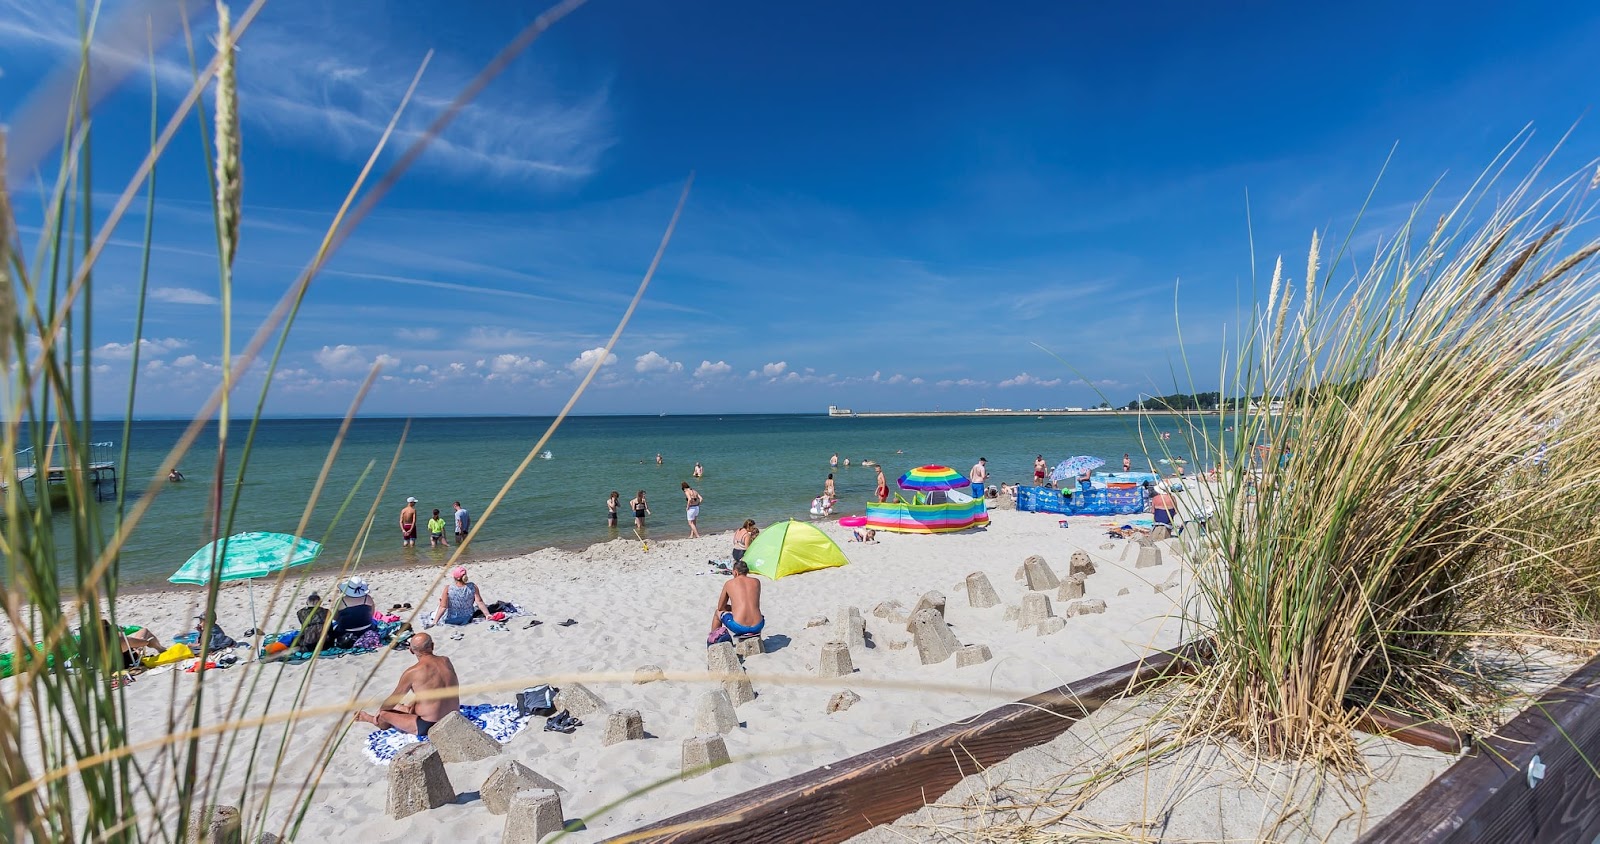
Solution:
[(1197, 566), (1192, 622), (1216, 646), (1197, 727), (1354, 766), (1371, 707), (1470, 721), (1493, 694), (1472, 635), (1592, 623), (1600, 241), (1579, 237), (1587, 176), (1538, 184), (1485, 176), (1440, 217), (1418, 205), (1362, 269), (1315, 235), (1304, 280), (1278, 261), (1221, 372), (1261, 401), (1230, 438), (1190, 430), (1224, 468)]

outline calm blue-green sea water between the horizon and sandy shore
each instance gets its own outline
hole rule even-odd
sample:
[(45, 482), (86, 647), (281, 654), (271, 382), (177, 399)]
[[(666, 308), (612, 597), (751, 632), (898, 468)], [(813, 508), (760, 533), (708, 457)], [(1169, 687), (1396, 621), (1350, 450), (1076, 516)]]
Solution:
[[(445, 559), (448, 550), (427, 547), (426, 518), (438, 508), (448, 520), (451, 502), (461, 500), (474, 515), (499, 491), (517, 464), (549, 425), (539, 417), (416, 419), (406, 432), (403, 419), (358, 419), (333, 464), (317, 500), (306, 535), (326, 543), (318, 566), (339, 566), (352, 553), (362, 521), (374, 505), (374, 529), (357, 548), (362, 566), (416, 564)], [(1178, 430), (1182, 419), (1146, 424), (1144, 444), (1152, 456), (1160, 448), (1182, 454)], [(1216, 417), (1206, 419), (1218, 425)], [(130, 496), (142, 494), (160, 459), (178, 441), (182, 422), (138, 422), (130, 443), (130, 465), (122, 478)], [(256, 435), (245, 476), (232, 457), (226, 489), (242, 483), (234, 531), (293, 532), (333, 448), (339, 420), (272, 419)], [(1173, 438), (1158, 446), (1160, 432)], [(120, 438), (122, 425), (96, 427), (96, 438)], [(232, 432), (232, 449), (243, 427)], [(379, 499), (389, 465), (394, 476)], [(862, 512), (875, 475), (861, 460), (883, 464), (890, 486), (906, 470), (944, 464), (962, 473), (987, 457), (990, 481), (1032, 476), (1034, 456), (1054, 462), (1074, 454), (1106, 459), (1120, 468), (1123, 452), (1133, 452), (1134, 468), (1147, 470), (1141, 457), (1141, 432), (1126, 417), (1022, 417), (1022, 419), (830, 419), (826, 416), (669, 416), (669, 417), (574, 417), (547, 444), (550, 459), (536, 459), (506, 496), (467, 558), (501, 558), (542, 547), (582, 548), (618, 537), (606, 528), (605, 497), (622, 494), (621, 535), (632, 537), (627, 500), (645, 489), (653, 516), (646, 535), (674, 539), (688, 534), (680, 481), (691, 481), (706, 497), (701, 532), (738, 528), (746, 518), (768, 524), (782, 518), (806, 518), (811, 499), (822, 489), (829, 456), (848, 457), (850, 468), (835, 470), (842, 513)], [(656, 465), (661, 452), (664, 464)], [(1184, 457), (1192, 459), (1187, 454)], [(182, 460), (187, 481), (166, 484), (126, 545), (122, 564), (125, 585), (150, 585), (166, 579), (210, 542), (208, 505), (216, 460), (214, 428)], [(694, 462), (706, 476), (691, 478)], [(366, 478), (362, 480), (362, 473)], [(421, 504), (421, 542), (402, 548), (398, 513), (406, 496)], [(338, 515), (349, 500), (346, 512)], [(110, 507), (102, 505), (106, 523)], [(446, 529), (446, 534), (453, 529)], [(58, 537), (67, 542), (62, 532)]]

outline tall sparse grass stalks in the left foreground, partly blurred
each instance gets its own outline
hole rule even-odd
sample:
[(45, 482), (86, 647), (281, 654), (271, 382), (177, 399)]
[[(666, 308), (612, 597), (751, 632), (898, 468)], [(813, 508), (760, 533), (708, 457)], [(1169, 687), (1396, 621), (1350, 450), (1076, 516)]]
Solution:
[[(242, 249), (248, 249), (248, 245), (240, 241), (240, 224), (246, 208), (240, 109), (248, 104), (242, 104), (237, 96), (238, 70), (234, 64), (234, 50), (235, 42), (261, 10), (262, 0), (254, 0), (237, 22), (230, 21), (226, 6), (218, 6), (216, 53), (205, 67), (195, 69), (189, 94), (168, 115), (160, 113), (152, 74), (150, 149), (102, 219), (96, 219), (93, 205), (90, 117), (94, 99), (104, 90), (91, 78), (93, 69), (98, 67), (91, 45), (126, 34), (96, 34), (98, 16), (85, 13), (77, 62), (53, 77), (75, 77), (75, 82), (66, 86), (67, 102), (46, 102), (45, 107), (30, 112), (64, 115), (58, 142), (59, 161), (53, 177), (43, 179), (43, 233), (34, 245), (32, 259), (10, 201), (10, 190), (14, 185), (0, 181), (0, 334), (3, 334), (0, 363), (6, 368), (6, 379), (0, 387), (3, 390), (0, 400), (5, 403), (5, 420), (0, 424), (0, 478), (6, 480), (0, 553), (6, 566), (5, 612), (16, 635), (10, 654), (16, 675), (0, 684), (0, 828), (5, 830), (8, 841), (176, 841), (184, 838), (192, 815), (219, 801), (240, 806), (248, 833), (266, 831), (267, 798), (253, 798), (250, 788), (240, 794), (226, 794), (219, 790), (219, 783), (224, 770), (242, 774), (243, 782), (277, 782), (282, 742), (286, 740), (288, 731), (294, 729), (298, 718), (294, 713), (304, 702), (306, 684), (280, 687), (277, 681), (262, 683), (262, 678), (256, 676), (248, 687), (235, 689), (226, 700), (208, 702), (206, 691), (214, 687), (216, 681), (211, 675), (198, 671), (192, 679), (174, 681), (171, 710), (165, 716), (166, 737), (158, 742), (160, 746), (139, 748), (130, 742), (128, 724), (133, 718), (147, 718), (147, 713), (130, 711), (115, 683), (120, 652), (104, 636), (83, 635), (80, 641), (78, 633), (99, 630), (102, 620), (117, 622), (118, 550), (130, 534), (139, 531), (141, 520), (150, 500), (160, 494), (166, 473), (189, 452), (211, 420), (218, 420), (218, 452), (214, 475), (210, 478), (213, 535), (230, 532), (237, 497), (230, 499), (226, 494), (224, 468), (237, 464), (238, 478), (248, 472), (248, 454), (272, 372), (317, 272), (459, 110), (533, 40), (581, 5), (581, 0), (557, 3), (517, 32), (427, 129), (394, 163), (381, 169), (378, 168), (381, 153), (395, 128), (395, 121), (390, 121), (384, 136), (376, 139), (371, 157), (354, 179), (318, 249), (309, 256), (306, 270), (286, 286), (277, 307), (254, 328), (243, 347), (234, 342), (230, 302), (234, 259)], [(141, 34), (146, 32), (141, 21), (118, 21), (118, 24), (138, 26)], [(187, 19), (182, 21), (186, 34), (189, 24)], [(416, 82), (413, 80), (411, 90), (402, 98), (400, 109), (410, 101)], [(214, 110), (210, 120), (195, 110), (206, 88), (214, 88), (211, 98)], [(43, 93), (53, 91), (54, 88), (50, 88)], [(395, 120), (400, 109), (395, 112)], [(88, 398), (94, 364), (93, 339), (96, 339), (91, 323), (94, 269), (122, 216), (138, 193), (146, 192), (147, 219), (133, 337), (133, 348), (138, 353), (152, 253), (154, 176), (157, 163), (170, 157), (170, 142), (178, 128), (192, 117), (200, 121), (202, 134), (216, 141), (216, 155), (211, 155), (211, 149), (203, 149), (198, 158), (214, 190), (218, 289), (224, 302), (222, 374), (210, 400), (162, 465), (136, 468), (141, 475), (149, 472), (144, 494), (138, 500), (128, 500), (118, 489), (117, 500), (107, 508), (98, 500), (88, 473), (93, 459), (86, 419), (93, 417)], [(37, 136), (37, 125), (30, 126), (30, 137)], [(34, 166), (32, 160), (6, 161), (0, 136), (0, 173), (27, 173)], [(179, 155), (166, 166), (194, 165)], [(368, 179), (374, 171), (381, 176), (370, 185)], [(685, 195), (686, 190), (685, 187)], [(670, 238), (670, 229), (667, 237)], [(667, 238), (662, 240), (662, 251), (666, 243)], [(656, 264), (659, 259), (661, 251)], [(646, 275), (640, 285), (634, 307), (648, 286), (648, 278)], [(629, 307), (627, 315), (632, 315), (634, 307)], [(613, 345), (626, 323), (624, 316), (611, 337)], [(277, 347), (266, 368), (261, 396), (253, 416), (243, 417), (234, 409), (234, 392), (274, 337)], [(138, 358), (131, 372), (122, 424), (123, 456), (139, 392)], [(368, 376), (366, 385), (374, 374), (376, 369)], [(592, 376), (594, 372), (590, 379)], [(573, 401), (587, 384), (589, 379), (584, 379)], [(352, 401), (346, 428), (360, 408), (365, 392), (363, 387)], [(250, 422), (238, 443), (227, 438), (229, 422), (235, 419)], [(38, 465), (66, 470), (62, 483), (50, 484), (56, 494), (35, 494), (35, 484), (16, 481), (21, 468), (18, 454), (29, 448), (34, 449)], [(328, 464), (336, 454), (338, 443), (328, 456)], [(530, 460), (531, 457), (530, 454)], [(126, 465), (126, 459), (120, 465), (125, 472), (134, 470)], [(240, 486), (235, 484), (235, 496)], [(43, 491), (45, 484), (38, 484), (38, 489)], [(306, 513), (310, 513), (317, 507), (322, 486), (307, 492)], [(344, 496), (341, 513), (354, 504), (358, 492), (357, 486)], [(366, 513), (368, 526), (373, 512)], [(493, 507), (482, 513), (478, 528), (491, 515)], [(59, 543), (58, 535), (66, 535), (69, 540)], [(346, 569), (357, 563), (355, 558), (347, 559)], [(278, 580), (262, 612), (266, 623), (282, 623), (288, 615), (288, 601), (278, 601), (278, 596), (285, 590), (293, 591), (293, 585), (294, 580), (288, 577)], [(206, 607), (216, 606), (216, 596), (213, 583), (206, 593)], [(30, 643), (38, 644), (30, 646)], [(381, 660), (374, 660), (371, 671), (376, 673), (379, 667)], [(358, 697), (358, 694), (352, 697), (349, 708), (366, 703)], [(286, 711), (290, 718), (246, 718), (243, 713), (250, 703)], [(214, 711), (218, 707), (224, 713), (222, 723), (202, 729), (202, 713)], [(298, 831), (306, 810), (314, 804), (320, 774), (339, 735), (342, 727), (330, 732), (323, 743), (325, 753), (306, 774), (304, 782), (298, 786), (280, 783), (288, 786), (286, 793), (291, 794), (288, 799), (296, 807), (290, 812), (290, 822), (274, 831), (288, 836)], [(278, 745), (277, 753), (274, 745)]]

